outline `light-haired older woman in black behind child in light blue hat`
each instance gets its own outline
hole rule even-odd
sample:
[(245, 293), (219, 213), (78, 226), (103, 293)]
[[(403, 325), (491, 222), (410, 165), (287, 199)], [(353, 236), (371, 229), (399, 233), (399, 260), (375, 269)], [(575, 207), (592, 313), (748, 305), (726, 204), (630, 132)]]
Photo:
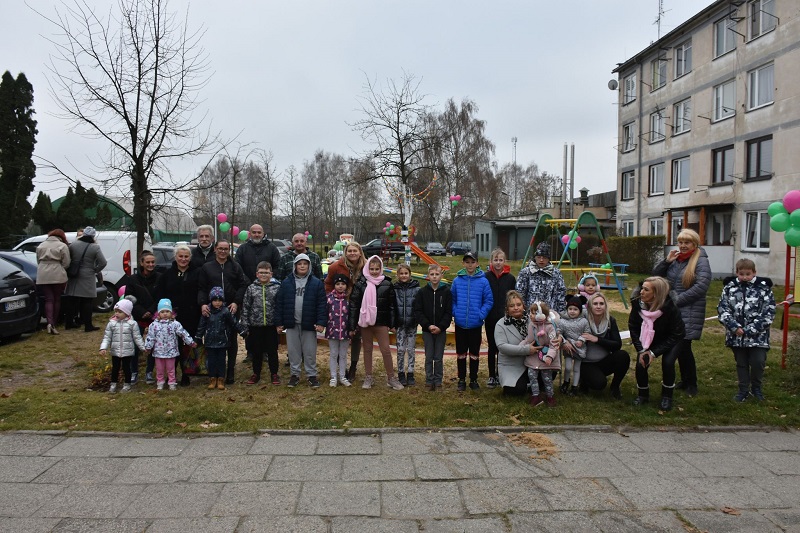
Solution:
[[(175, 247), (175, 260), (166, 272), (161, 274), (156, 283), (155, 299), (169, 298), (175, 319), (190, 334), (197, 332), (200, 324), (200, 306), (197, 304), (198, 280), (200, 269), (192, 264), (192, 249), (185, 244)], [(181, 385), (189, 385), (189, 375), (186, 374), (186, 357), (190, 346), (181, 346), (181, 356), (178, 363), (181, 368)]]

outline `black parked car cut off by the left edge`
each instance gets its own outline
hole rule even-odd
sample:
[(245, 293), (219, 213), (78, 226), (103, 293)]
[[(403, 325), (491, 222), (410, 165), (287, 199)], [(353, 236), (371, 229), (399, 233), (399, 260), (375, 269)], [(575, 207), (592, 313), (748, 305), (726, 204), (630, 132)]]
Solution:
[(18, 338), (39, 326), (36, 284), (15, 263), (0, 258), (0, 338)]

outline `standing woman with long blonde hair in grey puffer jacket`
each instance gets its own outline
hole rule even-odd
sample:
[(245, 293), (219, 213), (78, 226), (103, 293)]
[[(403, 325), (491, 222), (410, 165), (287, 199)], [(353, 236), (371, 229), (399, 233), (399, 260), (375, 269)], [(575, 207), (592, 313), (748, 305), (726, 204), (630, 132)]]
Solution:
[(686, 326), (686, 337), (681, 342), (678, 366), (681, 371), (679, 389), (686, 394), (697, 394), (697, 364), (692, 352), (692, 341), (700, 339), (706, 318), (706, 293), (711, 284), (711, 265), (706, 251), (700, 248), (700, 235), (690, 229), (678, 233), (678, 249), (671, 250), (667, 258), (653, 269), (654, 276), (669, 281), (675, 291), (675, 305)]

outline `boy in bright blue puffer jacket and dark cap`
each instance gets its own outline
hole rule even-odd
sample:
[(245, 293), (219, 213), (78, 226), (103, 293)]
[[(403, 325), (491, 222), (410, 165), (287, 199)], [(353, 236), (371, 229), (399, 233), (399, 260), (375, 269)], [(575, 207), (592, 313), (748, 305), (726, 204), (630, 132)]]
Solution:
[(494, 305), (492, 288), (478, 258), (472, 252), (464, 254), (464, 268), (458, 271), (450, 291), (453, 294), (453, 318), (456, 322), (456, 354), (458, 359), (458, 390), (467, 389), (467, 353), (469, 352), (469, 388), (478, 390), (478, 354), (483, 340), (483, 321)]

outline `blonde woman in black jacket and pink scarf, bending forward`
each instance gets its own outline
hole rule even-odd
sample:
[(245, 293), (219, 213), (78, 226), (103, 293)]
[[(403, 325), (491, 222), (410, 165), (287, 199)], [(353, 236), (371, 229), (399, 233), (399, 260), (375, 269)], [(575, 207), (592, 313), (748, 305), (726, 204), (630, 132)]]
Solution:
[(628, 329), (631, 331), (636, 353), (636, 386), (639, 393), (634, 405), (643, 405), (650, 399), (647, 369), (656, 357), (661, 359), (661, 404), (663, 411), (672, 409), (672, 392), (675, 388), (675, 361), (680, 352), (685, 327), (681, 313), (669, 296), (669, 282), (652, 276), (644, 280), (638, 297), (631, 301)]

